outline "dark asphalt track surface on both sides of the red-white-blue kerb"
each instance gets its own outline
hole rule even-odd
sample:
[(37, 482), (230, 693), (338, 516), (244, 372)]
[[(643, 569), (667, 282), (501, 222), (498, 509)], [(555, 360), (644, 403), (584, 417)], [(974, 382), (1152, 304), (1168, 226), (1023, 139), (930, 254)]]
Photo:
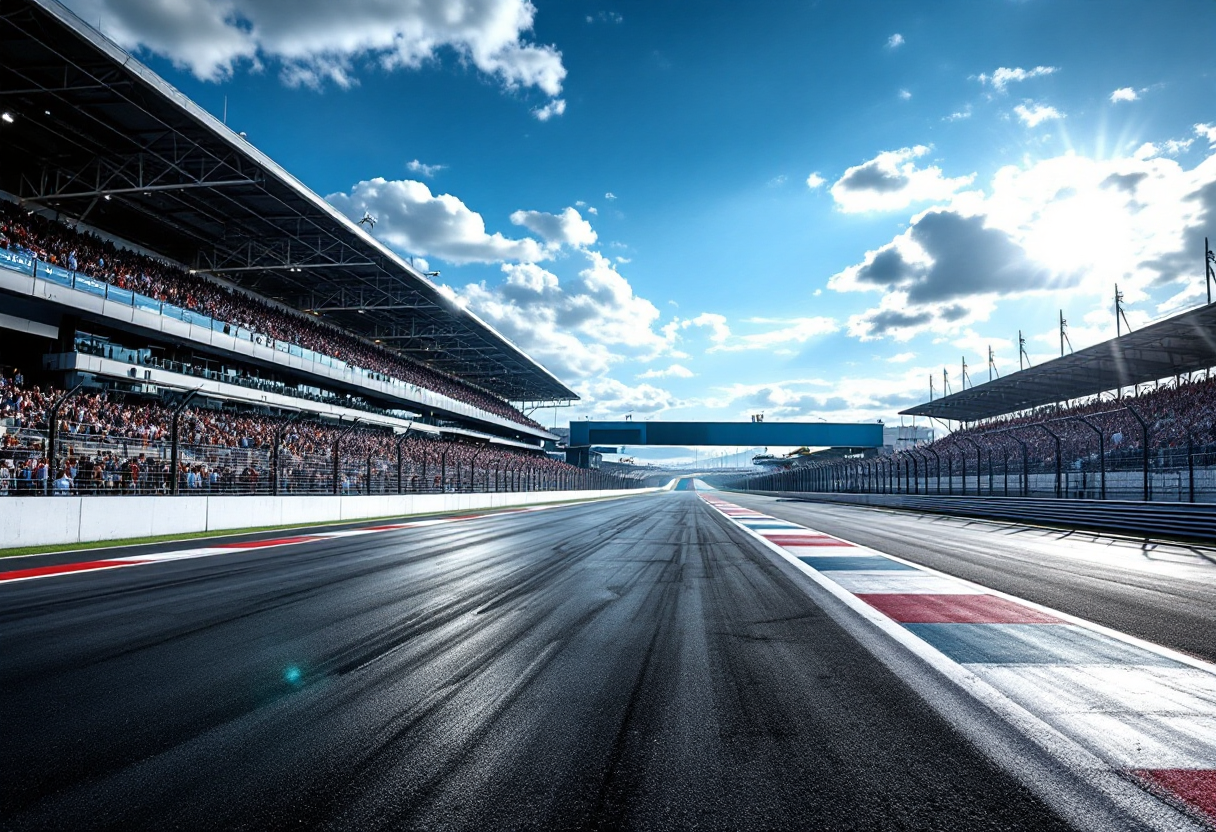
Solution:
[[(764, 500), (876, 547), (911, 545), (914, 519), (821, 508)], [(924, 557), (939, 569), (1212, 650), (1211, 583), (1173, 574), (1211, 575), (1201, 557), (1113, 579), (1088, 556), (1060, 569), (1009, 544), (1038, 563), (1023, 585), (991, 562), (1006, 545), (991, 530), (952, 521), (933, 535)], [(5, 830), (983, 831), (1077, 817), (692, 493), (22, 580), (0, 598)], [(1100, 813), (1077, 788), (1077, 811)]]

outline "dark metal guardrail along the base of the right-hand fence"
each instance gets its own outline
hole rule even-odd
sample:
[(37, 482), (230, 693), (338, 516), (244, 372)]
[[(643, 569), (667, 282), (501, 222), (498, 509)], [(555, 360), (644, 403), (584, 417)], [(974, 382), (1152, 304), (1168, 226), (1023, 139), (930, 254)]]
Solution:
[(1216, 543), (1216, 505), (1212, 504), (806, 491), (747, 491), (747, 494)]

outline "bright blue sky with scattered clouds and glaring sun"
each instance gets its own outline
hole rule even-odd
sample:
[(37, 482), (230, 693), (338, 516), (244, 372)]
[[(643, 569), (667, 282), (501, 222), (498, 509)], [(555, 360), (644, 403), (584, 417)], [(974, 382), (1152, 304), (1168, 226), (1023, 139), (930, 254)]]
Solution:
[(1109, 337), (1115, 281), (1195, 304), (1216, 237), (1209, 0), (68, 5), (377, 217), (561, 421), (890, 421), (1060, 308)]

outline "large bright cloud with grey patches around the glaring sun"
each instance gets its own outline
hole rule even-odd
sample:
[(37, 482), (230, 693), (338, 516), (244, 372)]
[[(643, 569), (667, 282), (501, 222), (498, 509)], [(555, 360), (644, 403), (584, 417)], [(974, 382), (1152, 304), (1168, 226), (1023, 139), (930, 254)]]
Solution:
[(1188, 169), (1152, 144), (1141, 151), (1008, 165), (984, 191), (913, 215), (889, 243), (829, 279), (838, 292), (882, 296), (850, 317), (849, 332), (961, 337), (998, 302), (1026, 296), (1066, 293), (1074, 308), (1109, 310), (1111, 282), (1130, 305), (1169, 293), (1175, 300), (1164, 305), (1193, 299), (1201, 288), (1194, 252), (1216, 220), (1216, 154)]

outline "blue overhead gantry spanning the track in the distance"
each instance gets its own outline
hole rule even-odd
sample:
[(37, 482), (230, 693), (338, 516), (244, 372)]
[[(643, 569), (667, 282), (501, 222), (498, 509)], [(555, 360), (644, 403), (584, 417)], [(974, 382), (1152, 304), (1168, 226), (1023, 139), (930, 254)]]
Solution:
[(764, 445), (880, 448), (883, 425), (855, 422), (570, 422), (570, 448), (590, 445)]

